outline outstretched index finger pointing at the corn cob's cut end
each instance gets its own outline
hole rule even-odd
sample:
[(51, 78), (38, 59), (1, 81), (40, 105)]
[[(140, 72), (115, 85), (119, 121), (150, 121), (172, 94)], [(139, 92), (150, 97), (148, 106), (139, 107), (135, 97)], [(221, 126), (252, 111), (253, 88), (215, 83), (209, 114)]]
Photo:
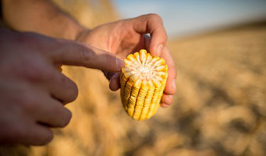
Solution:
[(58, 64), (102, 69), (108, 72), (119, 72), (125, 65), (120, 57), (111, 52), (70, 40), (57, 43), (57, 49), (50, 52), (50, 57)]

